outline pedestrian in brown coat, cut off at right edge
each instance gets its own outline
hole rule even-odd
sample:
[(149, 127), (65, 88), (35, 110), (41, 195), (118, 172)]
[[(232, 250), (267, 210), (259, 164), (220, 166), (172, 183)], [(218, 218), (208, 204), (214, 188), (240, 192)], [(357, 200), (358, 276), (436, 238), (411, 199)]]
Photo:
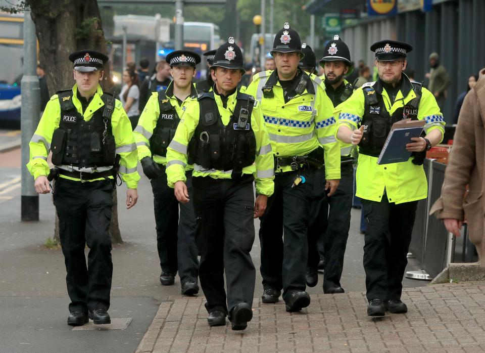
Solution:
[[(465, 195), (466, 187), (468, 192)], [(475, 245), (480, 266), (485, 267), (485, 69), (465, 97), (460, 111), (441, 197), (430, 213), (460, 236), (463, 220)]]

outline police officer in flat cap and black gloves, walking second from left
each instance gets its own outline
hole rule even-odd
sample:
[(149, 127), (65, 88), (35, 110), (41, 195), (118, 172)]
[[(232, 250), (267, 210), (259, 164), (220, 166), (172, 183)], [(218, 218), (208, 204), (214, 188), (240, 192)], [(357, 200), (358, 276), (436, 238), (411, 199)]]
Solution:
[[(165, 60), (170, 64), (173, 81), (165, 92), (152, 94), (133, 134), (138, 159), (152, 184), (157, 249), (162, 268), (160, 282), (163, 286), (173, 285), (178, 269), (182, 294), (193, 295), (199, 292), (195, 216), (192, 203), (187, 202), (180, 203), (179, 218), (179, 202), (167, 185), (165, 168), (167, 147), (177, 125), (190, 104), (197, 104), (192, 78), (196, 75), (196, 65), (201, 62), (201, 57), (192, 51), (179, 50), (168, 54)], [(186, 166), (190, 194), (191, 173), (191, 166)]]

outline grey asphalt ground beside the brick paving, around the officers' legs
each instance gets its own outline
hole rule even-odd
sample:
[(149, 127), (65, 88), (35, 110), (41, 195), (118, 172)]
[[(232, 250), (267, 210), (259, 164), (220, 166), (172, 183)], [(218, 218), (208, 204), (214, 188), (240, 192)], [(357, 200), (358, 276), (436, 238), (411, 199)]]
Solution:
[[(2, 130), (0, 130), (1, 134)], [(0, 135), (1, 137), (1, 135)], [(141, 168), (140, 168), (141, 169)], [(131, 317), (125, 330), (73, 331), (69, 314), (61, 250), (47, 250), (45, 241), (54, 232), (52, 195), (40, 195), (40, 221), (20, 222), (20, 149), (0, 154), (0, 352), (81, 351), (132, 352), (151, 323), (158, 304), (180, 298), (180, 283), (162, 287), (156, 248), (151, 186), (144, 176), (138, 204), (126, 210), (125, 186), (118, 188), (119, 224), (124, 244), (113, 247), (112, 318)], [(342, 285), (346, 291), (364, 291), (363, 236), (360, 210), (352, 210)], [(259, 221), (255, 221), (256, 231)], [(252, 256), (260, 265), (259, 241)], [(411, 259), (409, 270), (419, 268)], [(309, 293), (322, 293), (320, 283)], [(427, 282), (404, 280), (405, 287)], [(262, 293), (257, 271), (255, 296)], [(365, 310), (365, 308), (363, 308)]]

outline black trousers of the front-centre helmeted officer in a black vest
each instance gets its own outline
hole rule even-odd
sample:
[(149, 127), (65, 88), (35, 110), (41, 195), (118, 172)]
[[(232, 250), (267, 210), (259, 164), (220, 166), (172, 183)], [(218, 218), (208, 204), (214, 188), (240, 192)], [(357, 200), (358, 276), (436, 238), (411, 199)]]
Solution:
[(252, 305), (256, 281), (250, 255), (255, 236), (253, 177), (246, 175), (239, 181), (194, 177), (192, 181), (199, 278), (207, 311), (227, 314), (238, 303)]

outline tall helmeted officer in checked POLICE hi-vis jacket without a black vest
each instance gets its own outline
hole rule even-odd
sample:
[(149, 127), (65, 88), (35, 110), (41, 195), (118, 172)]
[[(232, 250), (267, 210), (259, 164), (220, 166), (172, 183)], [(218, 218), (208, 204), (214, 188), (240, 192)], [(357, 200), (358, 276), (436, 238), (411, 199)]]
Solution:
[(335, 192), (340, 148), (333, 106), (320, 80), (299, 68), (300, 36), (288, 23), (276, 34), (271, 54), (276, 70), (255, 75), (247, 90), (261, 102), (276, 161), (275, 192), (259, 231), (262, 300), (277, 302), (283, 289), (286, 311), (295, 312), (310, 304), (305, 292), (310, 204), (325, 197), (325, 190)]

